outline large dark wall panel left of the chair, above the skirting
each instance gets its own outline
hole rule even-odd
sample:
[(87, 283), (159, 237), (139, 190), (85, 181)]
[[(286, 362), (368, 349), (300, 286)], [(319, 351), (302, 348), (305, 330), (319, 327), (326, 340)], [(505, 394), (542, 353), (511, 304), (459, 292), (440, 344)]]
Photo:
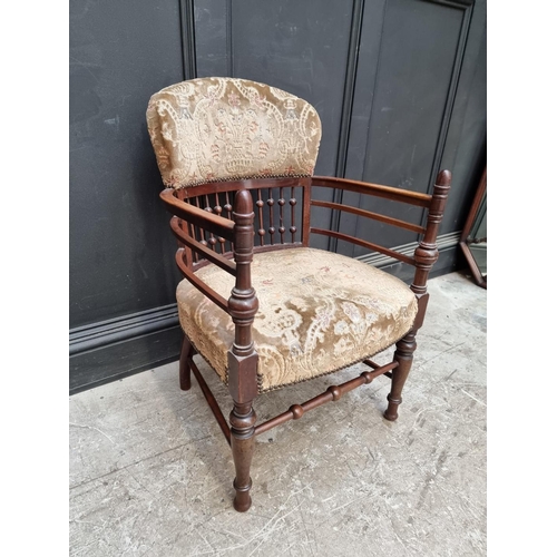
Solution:
[(70, 3), (71, 326), (174, 300), (145, 110), (182, 79), (179, 43), (177, 2)]

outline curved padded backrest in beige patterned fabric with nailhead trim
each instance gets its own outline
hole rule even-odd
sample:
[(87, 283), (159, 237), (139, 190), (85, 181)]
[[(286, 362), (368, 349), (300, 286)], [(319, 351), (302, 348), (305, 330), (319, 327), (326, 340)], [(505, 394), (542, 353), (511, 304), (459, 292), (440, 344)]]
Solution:
[(166, 186), (311, 176), (321, 121), (305, 100), (267, 85), (192, 79), (153, 95), (147, 127)]

